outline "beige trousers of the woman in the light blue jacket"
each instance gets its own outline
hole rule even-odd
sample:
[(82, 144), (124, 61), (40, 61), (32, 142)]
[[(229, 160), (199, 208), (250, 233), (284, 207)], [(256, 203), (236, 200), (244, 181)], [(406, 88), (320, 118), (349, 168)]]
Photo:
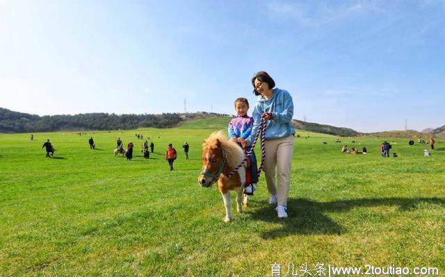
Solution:
[[(287, 205), (294, 143), (293, 135), (266, 140), (264, 174), (266, 174), (267, 189), (270, 194), (277, 195), (278, 205)], [(277, 183), (275, 183), (275, 167), (278, 169)]]

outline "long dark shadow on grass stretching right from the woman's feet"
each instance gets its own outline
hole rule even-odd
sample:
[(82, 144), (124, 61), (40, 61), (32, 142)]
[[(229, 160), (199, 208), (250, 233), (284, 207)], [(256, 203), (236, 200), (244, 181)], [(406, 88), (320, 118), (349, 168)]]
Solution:
[(308, 199), (289, 199), (286, 219), (278, 219), (277, 212), (266, 201), (259, 202), (261, 209), (252, 213), (252, 218), (270, 223), (281, 223), (279, 228), (261, 234), (264, 240), (288, 235), (341, 235), (346, 230), (324, 215), (326, 212), (348, 212), (355, 207), (398, 206), (399, 210), (415, 210), (420, 203), (445, 205), (442, 198), (377, 198), (332, 202), (317, 202)]

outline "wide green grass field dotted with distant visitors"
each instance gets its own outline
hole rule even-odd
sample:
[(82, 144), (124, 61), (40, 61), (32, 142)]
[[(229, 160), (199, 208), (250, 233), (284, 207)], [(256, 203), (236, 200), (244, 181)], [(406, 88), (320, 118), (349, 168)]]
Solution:
[[(396, 139), (398, 158), (385, 159), (382, 139), (335, 144), (337, 137), (300, 132), (289, 218), (277, 219), (261, 176), (243, 214), (232, 195), (234, 217), (225, 224), (219, 192), (200, 187), (197, 176), (202, 140), (227, 122), (35, 133), (33, 142), (30, 134), (0, 134), (0, 276), (271, 276), (274, 263), (281, 276), (302, 263), (312, 276), (317, 263), (437, 267), (445, 275), (444, 140), (423, 157), (428, 146)], [(136, 133), (154, 141), (149, 160)], [(131, 162), (113, 157), (117, 137), (135, 143)], [(47, 138), (55, 158), (44, 158)], [(163, 158), (170, 142), (179, 153), (174, 171)], [(369, 155), (343, 154), (343, 143), (365, 144)]]

